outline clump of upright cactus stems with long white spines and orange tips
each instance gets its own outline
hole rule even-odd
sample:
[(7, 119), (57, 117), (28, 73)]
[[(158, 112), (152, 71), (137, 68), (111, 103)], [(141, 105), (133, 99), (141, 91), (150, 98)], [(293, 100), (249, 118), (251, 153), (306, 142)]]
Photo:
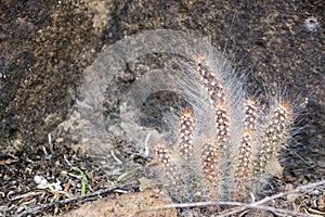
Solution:
[[(242, 100), (232, 99), (234, 80), (213, 67), (205, 55), (186, 64), (187, 74), (205, 90), (209, 113), (202, 129), (198, 106), (178, 114), (174, 142), (164, 139), (154, 146), (158, 168), (169, 193), (179, 202), (246, 201), (263, 187), (269, 167), (277, 162), (290, 136), (292, 108), (280, 95), (261, 103), (242, 88)], [(203, 114), (200, 114), (203, 115)]]

